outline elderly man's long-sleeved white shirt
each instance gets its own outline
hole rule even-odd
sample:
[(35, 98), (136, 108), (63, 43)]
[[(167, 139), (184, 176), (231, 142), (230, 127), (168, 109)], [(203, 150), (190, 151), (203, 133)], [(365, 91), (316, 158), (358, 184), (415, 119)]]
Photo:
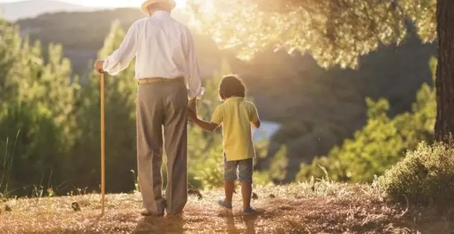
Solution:
[(108, 56), (102, 69), (116, 76), (136, 56), (136, 79), (186, 78), (188, 98), (203, 95), (195, 43), (191, 31), (172, 19), (169, 12), (157, 11), (152, 17), (134, 22), (120, 47)]

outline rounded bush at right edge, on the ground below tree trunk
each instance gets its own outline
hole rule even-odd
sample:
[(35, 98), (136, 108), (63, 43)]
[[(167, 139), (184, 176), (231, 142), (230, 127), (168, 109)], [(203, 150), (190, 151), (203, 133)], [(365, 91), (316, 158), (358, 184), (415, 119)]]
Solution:
[(378, 178), (377, 185), (393, 200), (412, 204), (446, 204), (454, 201), (454, 140), (418, 149)]

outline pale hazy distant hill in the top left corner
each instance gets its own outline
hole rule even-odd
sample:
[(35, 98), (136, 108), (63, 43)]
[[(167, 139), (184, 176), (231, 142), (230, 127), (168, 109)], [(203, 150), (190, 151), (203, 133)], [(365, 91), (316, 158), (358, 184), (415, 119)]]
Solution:
[(0, 17), (3, 17), (8, 21), (33, 18), (40, 14), (52, 12), (76, 12), (88, 10), (96, 9), (54, 0), (28, 0), (0, 3)]

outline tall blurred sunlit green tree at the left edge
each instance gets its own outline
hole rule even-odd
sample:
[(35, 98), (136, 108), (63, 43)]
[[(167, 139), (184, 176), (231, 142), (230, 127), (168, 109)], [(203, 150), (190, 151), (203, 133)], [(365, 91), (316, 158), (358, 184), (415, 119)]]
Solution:
[[(47, 58), (41, 45), (30, 46), (19, 30), (0, 22), (0, 149), (9, 149), (7, 139), (16, 139), (10, 161), (10, 187), (30, 194), (32, 184), (51, 180), (63, 182), (67, 155), (74, 144), (74, 95), (77, 78), (70, 76), (71, 64), (62, 58), (58, 45), (50, 45)], [(46, 61), (45, 61), (46, 60)], [(3, 92), (4, 91), (4, 92)], [(18, 134), (19, 133), (19, 134)], [(45, 139), (45, 140), (43, 140)], [(11, 141), (9, 141), (11, 143)], [(8, 154), (0, 155), (6, 161)], [(4, 189), (4, 188), (3, 188)]]

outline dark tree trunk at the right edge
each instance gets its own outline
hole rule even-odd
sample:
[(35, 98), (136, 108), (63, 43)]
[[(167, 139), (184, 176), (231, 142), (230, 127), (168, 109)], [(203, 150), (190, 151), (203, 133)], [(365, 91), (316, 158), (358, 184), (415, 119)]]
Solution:
[(454, 1), (437, 1), (438, 66), (435, 140), (454, 136)]

